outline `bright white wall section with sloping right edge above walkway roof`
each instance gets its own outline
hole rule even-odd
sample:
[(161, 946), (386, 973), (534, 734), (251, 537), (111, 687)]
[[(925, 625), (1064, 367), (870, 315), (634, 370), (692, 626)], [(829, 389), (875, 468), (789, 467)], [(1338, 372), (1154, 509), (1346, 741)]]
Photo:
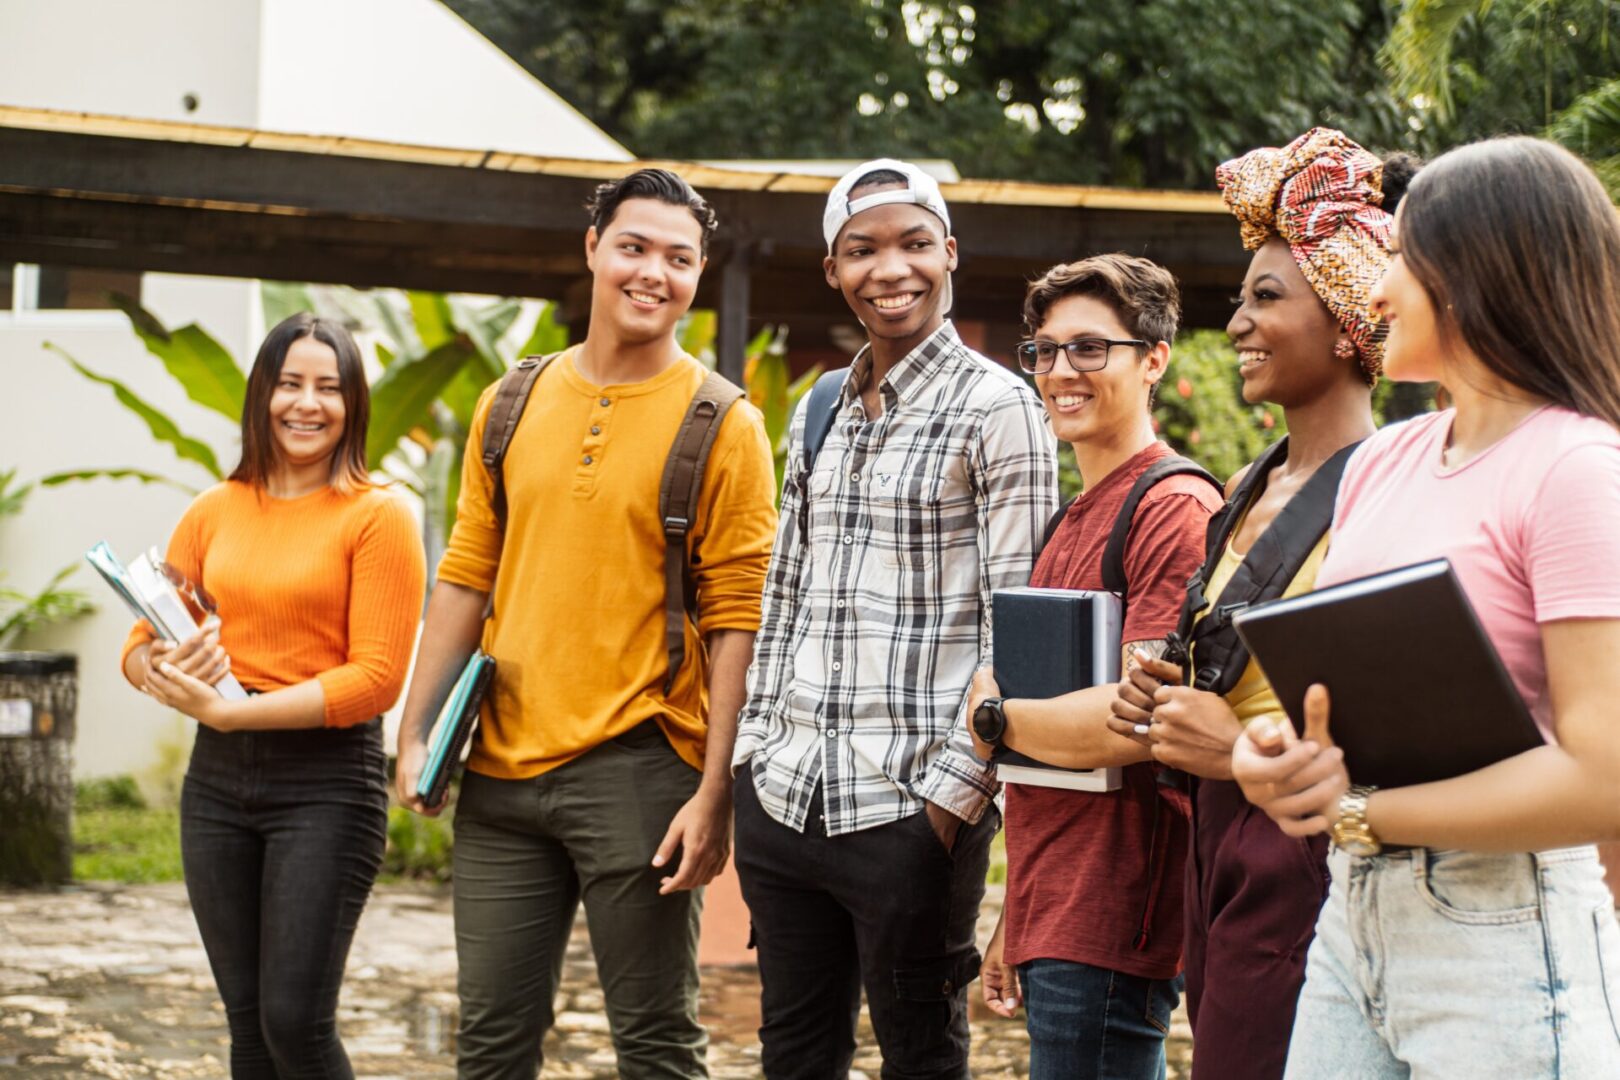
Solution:
[(630, 160), (439, 0), (264, 0), (259, 126)]

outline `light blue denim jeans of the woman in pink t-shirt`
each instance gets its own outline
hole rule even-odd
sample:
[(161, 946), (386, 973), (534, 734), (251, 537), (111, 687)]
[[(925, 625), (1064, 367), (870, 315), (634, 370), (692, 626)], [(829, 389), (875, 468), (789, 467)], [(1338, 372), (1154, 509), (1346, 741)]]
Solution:
[(1286, 1080), (1620, 1077), (1620, 929), (1592, 847), (1328, 858)]

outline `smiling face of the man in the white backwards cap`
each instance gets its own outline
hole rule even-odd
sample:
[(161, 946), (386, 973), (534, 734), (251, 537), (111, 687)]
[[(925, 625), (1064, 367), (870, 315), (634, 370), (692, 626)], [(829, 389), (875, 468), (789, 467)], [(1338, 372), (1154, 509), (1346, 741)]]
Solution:
[[(904, 185), (855, 188), (850, 198)], [(944, 321), (946, 282), (956, 269), (956, 240), (944, 222), (912, 202), (862, 210), (844, 223), (823, 269), (826, 283), (873, 340), (906, 348), (933, 334)]]

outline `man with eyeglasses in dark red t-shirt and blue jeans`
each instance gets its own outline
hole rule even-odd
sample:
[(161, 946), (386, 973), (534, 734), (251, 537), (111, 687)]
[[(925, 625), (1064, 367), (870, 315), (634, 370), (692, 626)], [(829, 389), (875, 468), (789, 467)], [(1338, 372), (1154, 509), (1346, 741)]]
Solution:
[[(1103, 589), (1103, 551), (1128, 494), (1171, 457), (1153, 434), (1153, 392), (1181, 317), (1176, 280), (1134, 256), (1053, 267), (1029, 287), (1035, 376), (1053, 432), (1074, 445), (1084, 481), (1042, 551), (1030, 585)], [(1158, 656), (1204, 531), (1221, 505), (1207, 476), (1171, 474), (1145, 491), (1124, 547), (1124, 656)], [(1006, 785), (1008, 886), (987, 949), (983, 996), (1011, 1017), (1022, 999), (1032, 1080), (1165, 1075), (1165, 1033), (1181, 996), (1187, 798), (1160, 784), (1150, 751), (1108, 729), (1113, 683), (1061, 698), (1001, 699), (974, 678), (975, 750), (996, 745), (1071, 769), (1121, 767), (1113, 792)]]

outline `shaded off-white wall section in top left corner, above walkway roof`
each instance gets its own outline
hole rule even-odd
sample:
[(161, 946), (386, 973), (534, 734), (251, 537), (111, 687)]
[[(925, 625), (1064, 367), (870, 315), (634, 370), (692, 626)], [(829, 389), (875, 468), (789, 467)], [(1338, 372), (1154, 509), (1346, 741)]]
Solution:
[(0, 0), (6, 105), (253, 126), (258, 52), (259, 0)]

